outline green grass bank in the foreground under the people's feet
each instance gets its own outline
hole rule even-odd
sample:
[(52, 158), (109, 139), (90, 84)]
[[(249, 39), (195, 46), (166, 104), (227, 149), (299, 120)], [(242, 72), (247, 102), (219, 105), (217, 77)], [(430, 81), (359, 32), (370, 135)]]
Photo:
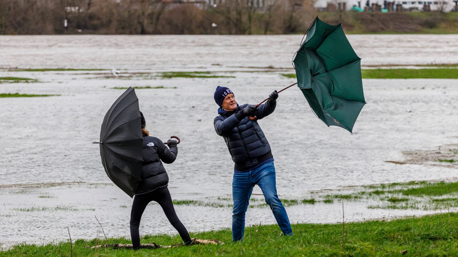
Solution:
[[(83, 240), (73, 238), (73, 257), (146, 257), (146, 256), (458, 256), (458, 215), (447, 214), (407, 218), (392, 221), (342, 224), (293, 224), (294, 236), (283, 236), (278, 225), (256, 225), (245, 228), (245, 239), (233, 243), (230, 229), (191, 233), (191, 237), (218, 239), (224, 245), (195, 245), (176, 248), (93, 250), (84, 246), (105, 243), (104, 238)], [(294, 222), (293, 222), (294, 223)], [(62, 228), (65, 230), (65, 228)], [(257, 230), (257, 232), (256, 232)], [(72, 228), (70, 226), (70, 233)], [(181, 242), (179, 236), (147, 235), (141, 243), (156, 242), (172, 245)], [(129, 238), (109, 238), (109, 244), (131, 243)], [(70, 241), (55, 244), (13, 246), (0, 252), (0, 257), (66, 257), (71, 256)]]

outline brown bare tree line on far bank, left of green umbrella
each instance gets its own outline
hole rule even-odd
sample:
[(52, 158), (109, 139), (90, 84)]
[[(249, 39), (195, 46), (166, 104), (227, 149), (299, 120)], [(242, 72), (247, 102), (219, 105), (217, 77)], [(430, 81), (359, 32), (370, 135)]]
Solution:
[(0, 34), (295, 33), (315, 18), (312, 1), (1, 0)]

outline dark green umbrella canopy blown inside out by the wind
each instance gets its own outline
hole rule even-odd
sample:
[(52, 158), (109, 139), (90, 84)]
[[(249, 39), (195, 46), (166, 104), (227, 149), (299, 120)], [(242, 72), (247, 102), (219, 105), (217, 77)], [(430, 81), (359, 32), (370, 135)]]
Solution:
[(341, 24), (316, 17), (293, 62), (298, 87), (327, 126), (352, 132), (365, 105), (360, 60)]

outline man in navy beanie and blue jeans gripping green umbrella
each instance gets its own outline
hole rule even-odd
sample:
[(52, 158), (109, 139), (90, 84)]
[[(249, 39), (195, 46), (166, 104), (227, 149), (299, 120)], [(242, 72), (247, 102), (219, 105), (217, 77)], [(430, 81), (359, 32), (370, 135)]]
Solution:
[(284, 235), (293, 235), (286, 210), (278, 198), (275, 185), (275, 167), (273, 155), (257, 120), (275, 110), (277, 91), (269, 95), (269, 100), (256, 108), (254, 105), (237, 104), (234, 93), (227, 87), (218, 86), (214, 93), (218, 104), (218, 114), (213, 124), (218, 135), (224, 137), (229, 153), (234, 161), (234, 178), (232, 180), (232, 239), (239, 241), (245, 233), (245, 212), (248, 208), (253, 187), (261, 187), (266, 203), (270, 206), (275, 220)]

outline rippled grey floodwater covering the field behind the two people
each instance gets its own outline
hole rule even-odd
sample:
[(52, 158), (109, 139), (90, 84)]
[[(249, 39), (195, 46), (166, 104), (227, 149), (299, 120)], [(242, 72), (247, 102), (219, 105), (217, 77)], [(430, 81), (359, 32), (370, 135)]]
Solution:
[[(349, 35), (363, 65), (458, 63), (457, 35)], [(295, 82), (291, 58), (299, 35), (287, 36), (1, 36), (0, 77), (38, 83), (1, 83), (0, 93), (58, 94), (0, 98), (0, 244), (72, 238), (130, 236), (131, 198), (115, 187), (100, 161), (99, 129), (123, 92), (138, 89), (153, 136), (179, 136), (177, 160), (165, 165), (173, 199), (216, 201), (231, 197), (233, 162), (215, 134), (216, 86), (239, 103), (258, 103)], [(278, 69), (256, 67), (273, 66)], [(12, 72), (9, 68), (74, 68), (121, 71)], [(456, 69), (451, 69), (457, 72)], [(156, 77), (164, 71), (209, 71), (230, 78)], [(249, 71), (249, 72), (248, 72)], [(353, 134), (327, 128), (292, 87), (275, 112), (259, 121), (273, 149), (280, 198), (312, 192), (412, 180), (455, 179), (457, 169), (405, 164), (403, 151), (458, 143), (458, 80), (363, 80), (367, 104)], [(78, 183), (77, 183), (78, 182)], [(26, 185), (17, 185), (26, 183)], [(51, 184), (43, 184), (51, 183)], [(255, 194), (261, 194), (255, 187)], [(255, 198), (262, 198), (254, 195)], [(176, 205), (190, 231), (230, 227), (231, 209)], [(27, 211), (28, 209), (28, 211)], [(286, 208), (291, 223), (338, 222), (341, 203)], [(367, 209), (345, 203), (345, 220), (367, 220), (428, 211)], [(246, 225), (275, 220), (268, 208), (250, 208)], [(151, 204), (141, 235), (175, 233), (158, 204)]]

